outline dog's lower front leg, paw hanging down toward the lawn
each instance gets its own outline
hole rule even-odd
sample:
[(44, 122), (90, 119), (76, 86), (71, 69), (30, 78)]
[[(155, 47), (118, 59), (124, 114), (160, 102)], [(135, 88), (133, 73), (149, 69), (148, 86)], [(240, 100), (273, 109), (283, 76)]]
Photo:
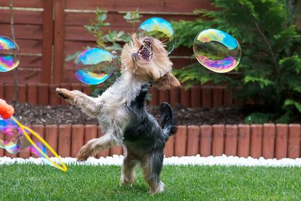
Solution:
[(117, 145), (117, 141), (112, 134), (104, 134), (100, 138), (89, 140), (78, 152), (76, 156), (78, 161), (85, 161), (88, 157), (96, 155), (100, 149), (106, 150)]

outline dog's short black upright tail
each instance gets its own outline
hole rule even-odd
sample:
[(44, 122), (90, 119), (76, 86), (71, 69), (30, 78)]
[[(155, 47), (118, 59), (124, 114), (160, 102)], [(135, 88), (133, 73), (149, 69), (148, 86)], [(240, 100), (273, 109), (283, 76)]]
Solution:
[(164, 134), (169, 136), (178, 132), (178, 125), (175, 123), (171, 105), (166, 102), (161, 104), (161, 128), (164, 130)]

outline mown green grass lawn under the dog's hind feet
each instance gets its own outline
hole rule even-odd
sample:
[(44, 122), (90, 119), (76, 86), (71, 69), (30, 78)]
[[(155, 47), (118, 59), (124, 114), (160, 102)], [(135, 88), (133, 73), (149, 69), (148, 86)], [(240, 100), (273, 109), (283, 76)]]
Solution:
[(151, 196), (138, 171), (119, 186), (120, 166), (0, 166), (0, 200), (301, 200), (301, 168), (164, 166)]

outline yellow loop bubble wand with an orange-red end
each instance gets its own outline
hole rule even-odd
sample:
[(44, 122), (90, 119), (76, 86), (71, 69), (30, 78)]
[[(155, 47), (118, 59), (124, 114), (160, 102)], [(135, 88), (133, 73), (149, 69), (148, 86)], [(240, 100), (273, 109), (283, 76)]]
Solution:
[[(12, 119), (12, 121), (15, 121), (15, 123), (17, 123), (17, 125), (19, 126), (19, 128), (21, 128), (24, 136), (26, 137), (26, 139), (29, 141), (29, 143), (31, 143), (33, 145), (33, 147), (40, 152), (40, 154), (45, 157), (46, 159), (48, 159), (50, 161), (50, 163), (55, 166), (55, 168), (60, 169), (61, 171), (67, 171), (67, 166), (64, 164), (64, 162), (62, 161), (62, 159), (60, 159), (60, 156), (55, 152), (55, 150), (53, 150), (53, 148), (51, 148), (51, 146), (49, 146), (49, 143), (47, 143), (46, 141), (44, 141), (44, 139), (42, 139), (42, 137), (40, 137), (39, 134), (37, 134), (37, 132), (31, 130), (31, 128), (28, 128), (25, 125), (22, 125), (22, 123), (20, 123), (19, 121), (17, 121), (17, 119), (15, 119), (14, 116), (12, 116), (12, 114), (14, 113), (14, 108), (11, 105), (8, 105), (6, 103), (5, 100), (2, 100), (0, 98), (0, 116), (2, 116), (3, 119)], [(38, 146), (37, 144), (31, 139), (31, 137), (28, 136), (27, 132), (31, 132), (31, 134), (33, 134), (33, 136), (35, 136), (37, 139), (39, 139), (44, 146), (46, 146), (46, 148), (48, 148), (50, 150), (50, 152), (58, 159), (58, 161), (60, 161), (60, 165), (56, 164), (53, 160), (51, 160)]]

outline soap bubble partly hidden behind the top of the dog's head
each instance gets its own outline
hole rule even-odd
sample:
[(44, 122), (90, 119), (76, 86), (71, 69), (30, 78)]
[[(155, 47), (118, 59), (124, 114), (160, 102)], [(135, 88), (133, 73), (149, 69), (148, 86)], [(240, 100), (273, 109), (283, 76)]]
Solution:
[(142, 22), (138, 27), (138, 35), (155, 37), (166, 45), (169, 53), (175, 46), (175, 30), (168, 21), (160, 17), (152, 17)]

